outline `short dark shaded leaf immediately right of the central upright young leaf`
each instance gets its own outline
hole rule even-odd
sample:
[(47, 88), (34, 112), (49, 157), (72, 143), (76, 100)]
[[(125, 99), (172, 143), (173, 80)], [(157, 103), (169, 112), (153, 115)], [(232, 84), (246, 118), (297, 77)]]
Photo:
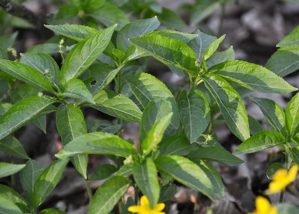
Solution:
[(158, 154), (159, 157), (165, 155), (187, 155), (191, 151), (196, 150), (195, 146), (190, 144), (190, 141), (184, 136), (174, 135), (164, 138), (159, 143)]

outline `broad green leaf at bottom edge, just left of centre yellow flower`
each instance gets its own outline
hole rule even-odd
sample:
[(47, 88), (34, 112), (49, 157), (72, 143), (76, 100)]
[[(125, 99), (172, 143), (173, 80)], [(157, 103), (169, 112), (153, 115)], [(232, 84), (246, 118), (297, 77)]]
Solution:
[(105, 181), (91, 200), (88, 214), (109, 214), (127, 192), (130, 181), (125, 177), (114, 176)]

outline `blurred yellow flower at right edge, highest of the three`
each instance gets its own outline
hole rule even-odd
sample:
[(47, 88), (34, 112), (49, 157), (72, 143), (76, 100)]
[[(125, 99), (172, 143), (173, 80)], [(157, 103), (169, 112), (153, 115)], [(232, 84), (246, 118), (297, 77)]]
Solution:
[(286, 189), (289, 184), (295, 181), (297, 173), (298, 165), (294, 165), (289, 173), (284, 169), (278, 170), (273, 176), (273, 181), (269, 184), (269, 189), (264, 194), (269, 195)]

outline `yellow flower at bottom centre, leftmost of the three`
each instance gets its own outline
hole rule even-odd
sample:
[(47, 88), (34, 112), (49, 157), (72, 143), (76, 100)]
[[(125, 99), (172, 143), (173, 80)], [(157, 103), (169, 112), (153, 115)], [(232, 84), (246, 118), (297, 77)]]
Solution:
[(131, 206), (128, 211), (138, 214), (165, 214), (161, 212), (165, 207), (164, 203), (157, 204), (153, 210), (149, 205), (149, 199), (146, 196), (142, 196), (140, 200), (140, 206)]

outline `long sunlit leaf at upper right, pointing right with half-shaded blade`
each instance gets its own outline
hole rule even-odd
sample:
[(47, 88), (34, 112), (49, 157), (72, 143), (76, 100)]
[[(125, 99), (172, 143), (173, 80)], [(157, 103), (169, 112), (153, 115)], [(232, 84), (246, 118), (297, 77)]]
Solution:
[(237, 84), (242, 81), (249, 89), (261, 93), (288, 94), (297, 90), (268, 69), (244, 61), (226, 61), (211, 67), (208, 72)]

